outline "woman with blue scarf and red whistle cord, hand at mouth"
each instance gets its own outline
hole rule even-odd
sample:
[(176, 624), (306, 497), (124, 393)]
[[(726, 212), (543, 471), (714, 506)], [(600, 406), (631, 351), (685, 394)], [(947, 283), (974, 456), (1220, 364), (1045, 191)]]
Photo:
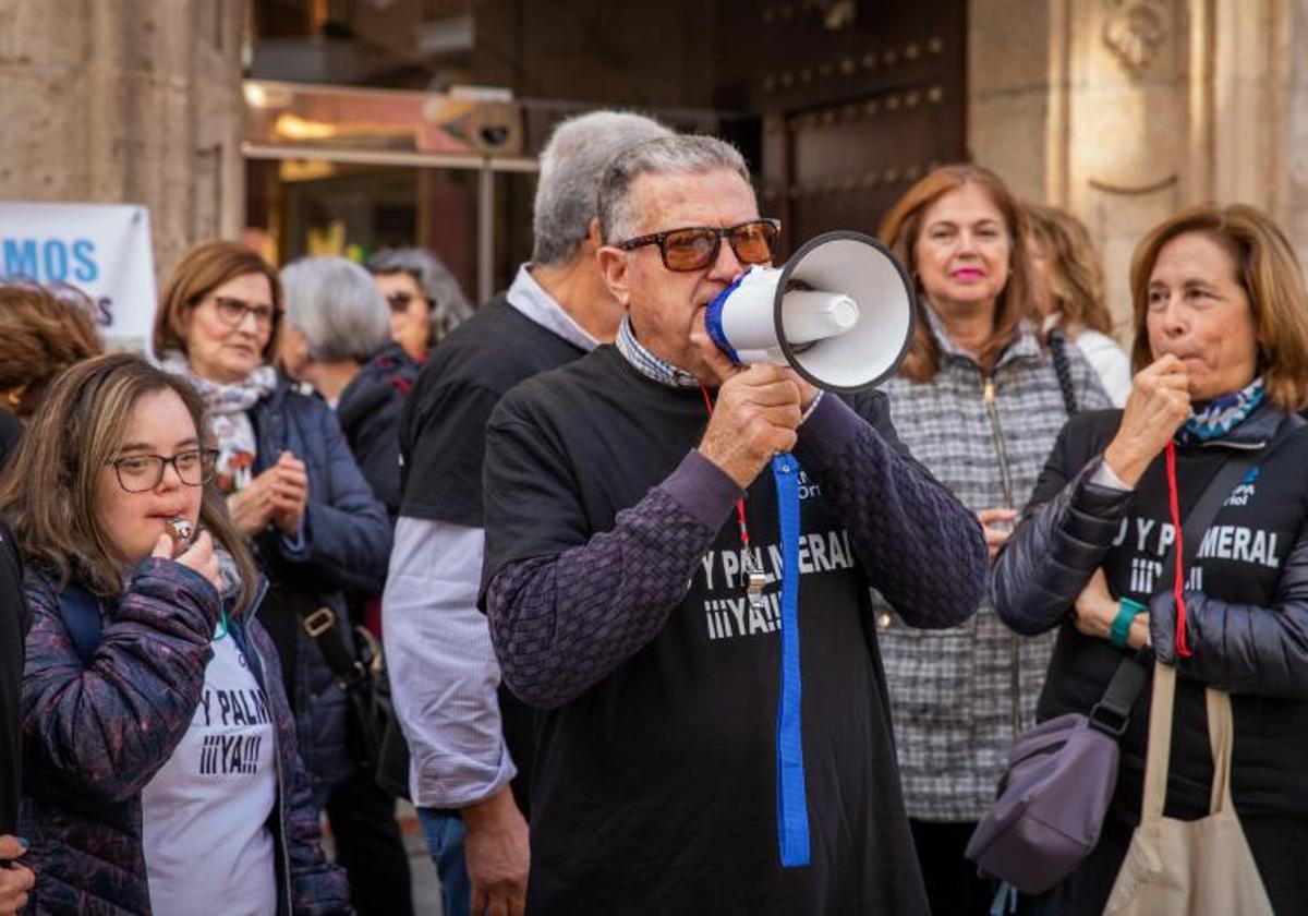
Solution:
[[(995, 608), (1019, 632), (1057, 631), (1041, 721), (1090, 713), (1142, 645), (1176, 669), (1169, 817), (1209, 811), (1203, 688), (1228, 691), (1240, 826), (1273, 911), (1304, 913), (1308, 429), (1295, 411), (1308, 402), (1308, 293), (1294, 249), (1264, 213), (1199, 207), (1135, 249), (1131, 304), (1126, 408), (1063, 431), (999, 557)], [(1177, 581), (1162, 563), (1176, 521), (1222, 465), (1274, 437), (1275, 451), (1231, 491)], [(1121, 737), (1099, 845), (1033, 912), (1103, 912), (1141, 820), (1147, 695)]]

